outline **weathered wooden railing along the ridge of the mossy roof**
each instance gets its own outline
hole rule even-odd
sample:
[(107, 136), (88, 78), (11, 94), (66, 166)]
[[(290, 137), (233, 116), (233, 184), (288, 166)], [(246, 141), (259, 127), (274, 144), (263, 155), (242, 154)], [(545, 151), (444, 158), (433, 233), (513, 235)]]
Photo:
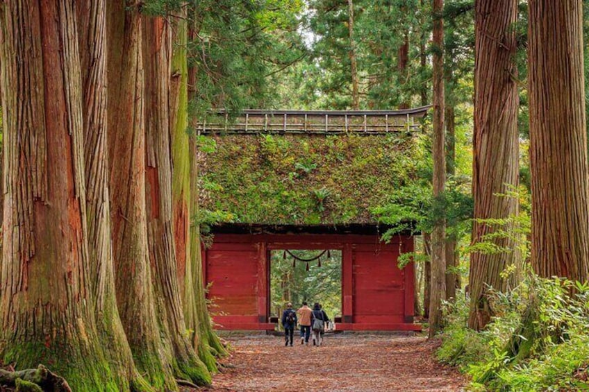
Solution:
[(243, 110), (231, 117), (217, 110), (197, 125), (199, 135), (304, 134), (338, 135), (358, 133), (383, 135), (421, 129), (416, 118), (431, 106), (406, 110)]

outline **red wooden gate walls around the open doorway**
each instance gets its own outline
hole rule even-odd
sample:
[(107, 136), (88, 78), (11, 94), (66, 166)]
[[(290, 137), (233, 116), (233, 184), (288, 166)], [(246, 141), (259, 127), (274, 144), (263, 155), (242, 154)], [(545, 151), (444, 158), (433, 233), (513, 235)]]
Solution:
[(413, 324), (413, 263), (399, 269), (399, 253), (413, 238), (390, 244), (379, 235), (215, 234), (203, 257), (217, 327), (273, 330), (269, 323), (269, 253), (274, 249), (342, 250), (342, 318), (338, 330), (420, 330)]

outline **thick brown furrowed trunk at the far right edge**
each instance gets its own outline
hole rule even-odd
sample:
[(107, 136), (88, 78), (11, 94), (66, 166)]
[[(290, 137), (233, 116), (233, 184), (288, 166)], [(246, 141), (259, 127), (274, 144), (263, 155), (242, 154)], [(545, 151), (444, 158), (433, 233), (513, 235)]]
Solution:
[[(531, 263), (586, 282), (589, 188), (581, 0), (530, 0)], [(551, 26), (551, 28), (546, 28)]]

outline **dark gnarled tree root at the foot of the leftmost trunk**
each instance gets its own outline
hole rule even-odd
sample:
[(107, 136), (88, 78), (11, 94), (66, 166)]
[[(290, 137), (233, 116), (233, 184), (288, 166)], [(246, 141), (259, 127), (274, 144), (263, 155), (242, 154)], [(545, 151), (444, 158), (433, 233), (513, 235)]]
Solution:
[[(72, 392), (67, 381), (52, 373), (43, 365), (36, 369), (9, 371), (0, 369), (0, 385), (16, 387), (17, 391)], [(38, 386), (35, 389), (33, 386)]]

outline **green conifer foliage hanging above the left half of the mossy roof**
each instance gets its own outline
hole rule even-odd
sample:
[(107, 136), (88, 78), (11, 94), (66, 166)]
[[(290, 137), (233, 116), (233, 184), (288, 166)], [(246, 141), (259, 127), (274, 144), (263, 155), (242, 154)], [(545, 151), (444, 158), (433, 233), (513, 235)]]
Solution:
[(192, 115), (206, 119), (210, 108), (232, 113), (242, 108), (271, 108), (281, 72), (306, 56), (297, 33), (301, 0), (192, 3), (194, 39), (189, 66), (197, 71)]

